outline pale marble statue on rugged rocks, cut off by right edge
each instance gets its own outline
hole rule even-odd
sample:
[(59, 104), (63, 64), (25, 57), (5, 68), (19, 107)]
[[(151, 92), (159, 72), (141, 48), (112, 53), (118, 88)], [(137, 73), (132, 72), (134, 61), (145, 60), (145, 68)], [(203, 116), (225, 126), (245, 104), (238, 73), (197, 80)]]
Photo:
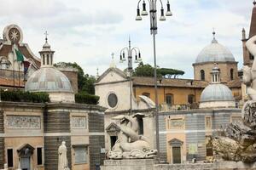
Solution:
[[(256, 36), (246, 43), (247, 49), (256, 57)], [(213, 150), (226, 161), (256, 161), (256, 60), (252, 68), (243, 67), (243, 82), (250, 98), (241, 110), (241, 122), (231, 123), (221, 136), (213, 139)]]

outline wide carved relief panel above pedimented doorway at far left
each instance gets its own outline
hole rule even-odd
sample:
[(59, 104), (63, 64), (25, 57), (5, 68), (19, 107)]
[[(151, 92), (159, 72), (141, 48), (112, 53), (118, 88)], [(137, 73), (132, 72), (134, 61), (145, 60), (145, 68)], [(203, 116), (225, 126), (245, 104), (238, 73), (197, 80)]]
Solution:
[(7, 116), (7, 128), (41, 128), (40, 116)]

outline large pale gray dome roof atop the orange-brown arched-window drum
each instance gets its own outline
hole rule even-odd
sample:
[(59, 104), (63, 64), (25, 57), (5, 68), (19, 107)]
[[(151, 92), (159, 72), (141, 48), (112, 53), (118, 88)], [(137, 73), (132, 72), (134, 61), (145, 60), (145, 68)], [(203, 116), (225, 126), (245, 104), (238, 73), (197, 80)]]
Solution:
[(218, 61), (236, 61), (233, 54), (228, 48), (225, 48), (223, 45), (219, 44), (214, 38), (212, 43), (206, 48), (201, 50), (201, 53), (198, 54), (195, 59), (195, 63), (203, 62), (218, 62)]

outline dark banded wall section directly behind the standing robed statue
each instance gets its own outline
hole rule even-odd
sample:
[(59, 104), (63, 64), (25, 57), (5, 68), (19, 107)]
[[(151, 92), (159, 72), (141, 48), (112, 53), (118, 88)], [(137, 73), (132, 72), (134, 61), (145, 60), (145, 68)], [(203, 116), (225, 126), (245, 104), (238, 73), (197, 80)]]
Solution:
[(58, 169), (58, 148), (66, 141), (68, 167), (71, 168), (71, 139), (70, 136), (44, 137), (44, 169)]

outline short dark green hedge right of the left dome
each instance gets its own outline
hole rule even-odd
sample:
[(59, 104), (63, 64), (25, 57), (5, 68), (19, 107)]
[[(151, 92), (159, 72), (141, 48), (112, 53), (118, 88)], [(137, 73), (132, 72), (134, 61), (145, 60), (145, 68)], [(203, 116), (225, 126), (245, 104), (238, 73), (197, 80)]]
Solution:
[(75, 94), (75, 101), (79, 104), (97, 105), (100, 97), (92, 94)]

